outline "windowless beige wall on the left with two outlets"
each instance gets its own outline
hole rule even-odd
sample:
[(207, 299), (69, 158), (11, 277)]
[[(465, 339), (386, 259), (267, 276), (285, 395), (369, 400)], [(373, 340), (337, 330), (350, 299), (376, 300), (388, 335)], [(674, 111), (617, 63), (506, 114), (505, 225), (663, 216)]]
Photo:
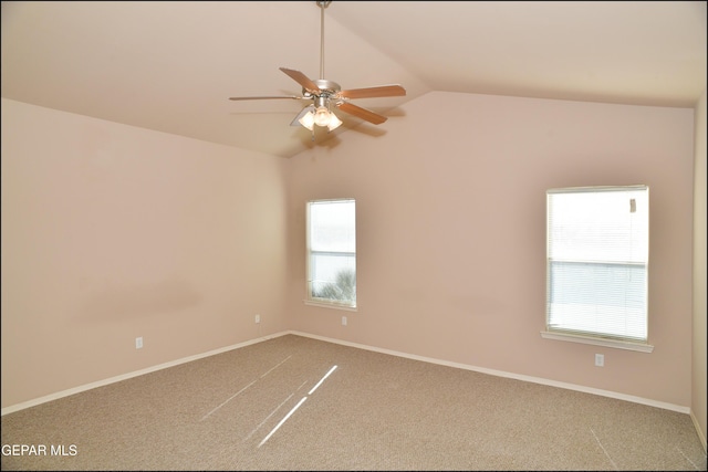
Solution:
[(285, 329), (285, 172), (3, 98), (2, 407)]

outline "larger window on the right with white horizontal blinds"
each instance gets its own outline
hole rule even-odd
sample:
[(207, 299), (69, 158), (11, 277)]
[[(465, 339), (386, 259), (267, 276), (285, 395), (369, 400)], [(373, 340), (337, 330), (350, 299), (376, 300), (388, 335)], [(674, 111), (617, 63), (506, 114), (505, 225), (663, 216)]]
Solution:
[(648, 187), (548, 190), (544, 337), (650, 352), (648, 254)]

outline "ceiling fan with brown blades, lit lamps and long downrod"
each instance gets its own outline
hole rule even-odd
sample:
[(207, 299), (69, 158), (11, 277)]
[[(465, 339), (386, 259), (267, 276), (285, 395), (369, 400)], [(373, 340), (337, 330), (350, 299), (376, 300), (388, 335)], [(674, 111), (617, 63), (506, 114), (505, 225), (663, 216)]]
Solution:
[(290, 126), (302, 125), (303, 127), (312, 132), (312, 139), (314, 139), (314, 126), (326, 127), (329, 132), (337, 128), (342, 120), (334, 114), (333, 107), (348, 113), (350, 115), (362, 118), (374, 125), (381, 125), (387, 118), (371, 109), (363, 108), (358, 105), (351, 103), (351, 99), (355, 98), (378, 98), (388, 96), (404, 96), (406, 90), (397, 84), (392, 85), (378, 85), (365, 88), (350, 88), (342, 90), (336, 82), (324, 78), (324, 9), (332, 3), (327, 1), (316, 1), (320, 7), (320, 78), (311, 80), (300, 71), (292, 69), (280, 67), (292, 80), (298, 82), (302, 86), (302, 95), (277, 95), (277, 96), (232, 96), (229, 99), (243, 101), (243, 99), (304, 99), (312, 102), (305, 106)]

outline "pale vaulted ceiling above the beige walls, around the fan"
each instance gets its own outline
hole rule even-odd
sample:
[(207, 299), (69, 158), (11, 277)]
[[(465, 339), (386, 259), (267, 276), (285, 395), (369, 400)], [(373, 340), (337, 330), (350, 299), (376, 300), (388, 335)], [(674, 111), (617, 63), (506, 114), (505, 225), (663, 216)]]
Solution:
[[(3, 1), (2, 96), (291, 157), (327, 137), (386, 133), (337, 113), (326, 136), (290, 126), (308, 102), (289, 67), (406, 119), (430, 91), (693, 107), (706, 90), (705, 1)], [(321, 128), (315, 128), (320, 130)], [(344, 138), (344, 136), (340, 136)]]

